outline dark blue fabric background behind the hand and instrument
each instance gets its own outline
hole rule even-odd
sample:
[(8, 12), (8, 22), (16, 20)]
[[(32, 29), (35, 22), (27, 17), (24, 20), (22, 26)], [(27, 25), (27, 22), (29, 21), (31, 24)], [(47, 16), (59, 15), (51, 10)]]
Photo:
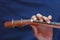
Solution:
[[(36, 40), (30, 26), (4, 28), (5, 21), (29, 19), (41, 13), (60, 22), (60, 0), (0, 0), (0, 40)], [(53, 29), (53, 40), (60, 40), (60, 29)]]

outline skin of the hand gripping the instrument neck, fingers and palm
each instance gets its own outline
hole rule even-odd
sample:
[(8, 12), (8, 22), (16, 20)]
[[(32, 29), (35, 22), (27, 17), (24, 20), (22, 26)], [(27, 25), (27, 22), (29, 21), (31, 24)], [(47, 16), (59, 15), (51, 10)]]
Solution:
[[(33, 15), (31, 17), (31, 19), (33, 20), (39, 20), (41, 22), (47, 22), (50, 23), (52, 16), (49, 15), (48, 17), (45, 17), (43, 15), (41, 15), (40, 13)], [(52, 40), (52, 28), (50, 27), (45, 27), (47, 25), (30, 25), (33, 28), (33, 32), (34, 32), (34, 36), (38, 39), (38, 40)]]

